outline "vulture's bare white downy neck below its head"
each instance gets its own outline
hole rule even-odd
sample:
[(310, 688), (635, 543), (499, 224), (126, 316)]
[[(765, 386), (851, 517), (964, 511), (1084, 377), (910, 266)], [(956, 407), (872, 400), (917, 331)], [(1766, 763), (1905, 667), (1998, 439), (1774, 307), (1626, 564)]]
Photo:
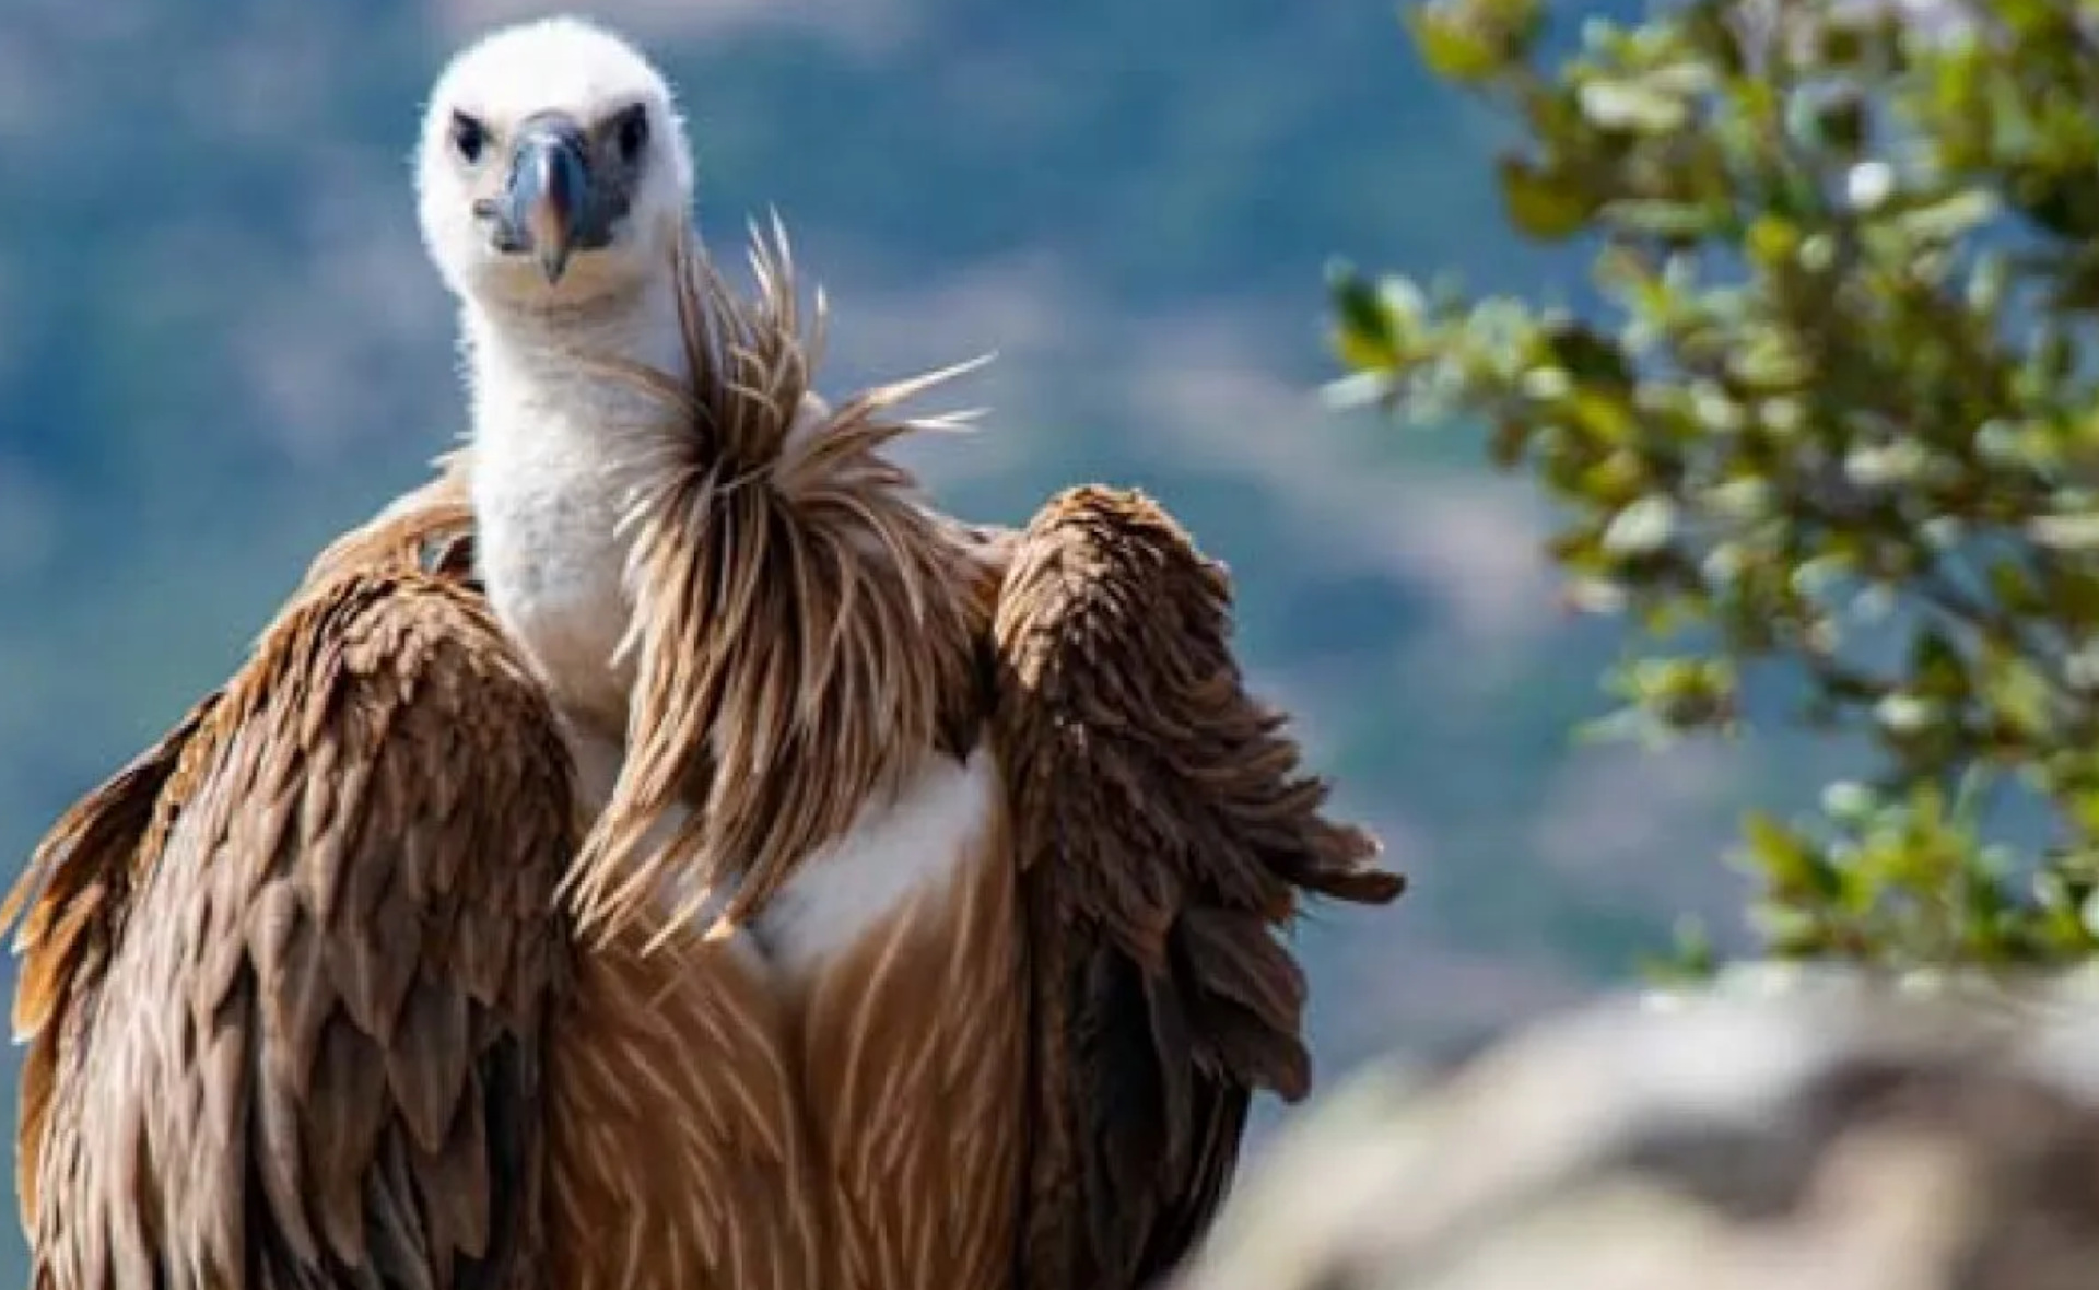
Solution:
[(634, 487), (676, 413), (592, 359), (626, 359), (686, 380), (667, 281), (563, 308), (468, 302), (472, 501), (481, 577), (495, 617), (533, 659), (556, 703), (623, 732)]

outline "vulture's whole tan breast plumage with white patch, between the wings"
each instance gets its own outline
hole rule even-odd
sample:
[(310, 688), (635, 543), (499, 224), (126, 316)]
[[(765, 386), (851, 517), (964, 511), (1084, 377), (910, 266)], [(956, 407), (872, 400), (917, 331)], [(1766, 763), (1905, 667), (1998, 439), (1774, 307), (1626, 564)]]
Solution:
[(558, 1286), (1012, 1282), (1026, 990), (1001, 789), (989, 749), (930, 753), (749, 927), (621, 923), (579, 961), (550, 1022)]

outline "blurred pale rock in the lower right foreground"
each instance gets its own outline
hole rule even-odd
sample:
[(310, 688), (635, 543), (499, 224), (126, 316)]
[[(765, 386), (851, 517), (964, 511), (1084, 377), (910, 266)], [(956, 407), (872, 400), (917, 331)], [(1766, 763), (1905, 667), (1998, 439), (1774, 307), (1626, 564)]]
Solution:
[(1178, 1290), (2099, 1286), (2086, 975), (1736, 973), (1341, 1084)]

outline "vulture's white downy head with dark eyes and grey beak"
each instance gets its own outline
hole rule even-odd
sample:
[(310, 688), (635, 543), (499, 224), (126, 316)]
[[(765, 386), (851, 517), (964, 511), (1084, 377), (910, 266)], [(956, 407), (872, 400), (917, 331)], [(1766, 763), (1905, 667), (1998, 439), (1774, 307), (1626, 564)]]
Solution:
[(445, 285), (539, 310), (661, 279), (693, 206), (670, 86), (573, 17), (493, 31), (430, 92), (416, 157), (424, 245)]

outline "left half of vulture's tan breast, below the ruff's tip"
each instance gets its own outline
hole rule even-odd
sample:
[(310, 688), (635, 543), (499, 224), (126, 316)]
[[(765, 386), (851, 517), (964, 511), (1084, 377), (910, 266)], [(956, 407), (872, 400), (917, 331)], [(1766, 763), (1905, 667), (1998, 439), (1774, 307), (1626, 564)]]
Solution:
[(560, 1290), (840, 1284), (785, 1011), (735, 942), (634, 925), (550, 1017), (548, 1248)]

